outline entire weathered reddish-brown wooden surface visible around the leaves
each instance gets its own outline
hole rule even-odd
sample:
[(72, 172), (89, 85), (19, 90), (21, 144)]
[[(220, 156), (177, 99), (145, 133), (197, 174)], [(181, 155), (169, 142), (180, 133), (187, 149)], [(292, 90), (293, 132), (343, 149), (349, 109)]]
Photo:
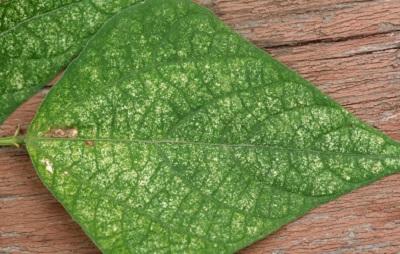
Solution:
[[(233, 29), (400, 140), (399, 0), (198, 0)], [(47, 90), (0, 136), (25, 130)], [(0, 150), (0, 253), (98, 253), (23, 149)], [(323, 205), (241, 253), (400, 253), (400, 174)]]

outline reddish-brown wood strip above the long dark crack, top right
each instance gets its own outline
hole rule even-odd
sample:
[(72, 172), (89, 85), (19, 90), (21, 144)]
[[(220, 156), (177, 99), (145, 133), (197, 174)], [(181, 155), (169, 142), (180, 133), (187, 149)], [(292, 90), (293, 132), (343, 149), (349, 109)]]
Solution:
[(398, 0), (216, 0), (213, 8), (260, 47), (276, 47), (398, 31), (398, 5)]

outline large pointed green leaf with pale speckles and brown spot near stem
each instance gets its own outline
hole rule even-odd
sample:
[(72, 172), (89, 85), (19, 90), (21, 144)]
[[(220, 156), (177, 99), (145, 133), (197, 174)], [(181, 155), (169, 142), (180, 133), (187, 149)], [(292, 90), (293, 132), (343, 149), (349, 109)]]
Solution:
[(398, 143), (190, 1), (107, 22), (26, 144), (104, 253), (232, 253), (400, 168)]

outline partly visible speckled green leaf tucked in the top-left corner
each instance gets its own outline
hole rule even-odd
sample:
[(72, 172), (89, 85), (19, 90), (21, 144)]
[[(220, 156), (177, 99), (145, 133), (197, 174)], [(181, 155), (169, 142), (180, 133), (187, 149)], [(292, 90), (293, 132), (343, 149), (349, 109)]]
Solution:
[(102, 24), (138, 2), (0, 3), (0, 124), (67, 66)]

